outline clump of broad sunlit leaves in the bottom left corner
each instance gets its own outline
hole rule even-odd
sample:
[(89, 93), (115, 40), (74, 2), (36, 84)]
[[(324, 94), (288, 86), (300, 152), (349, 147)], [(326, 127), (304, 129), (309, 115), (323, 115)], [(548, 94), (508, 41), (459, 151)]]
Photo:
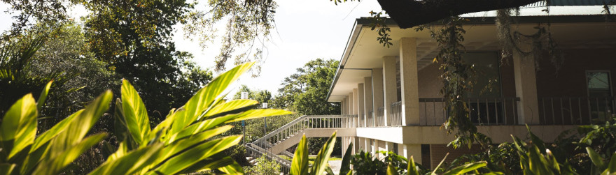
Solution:
[[(46, 97), (51, 82), (41, 97)], [(0, 172), (3, 174), (60, 174), (78, 156), (106, 134), (85, 137), (109, 108), (111, 91), (106, 91), (85, 109), (60, 121), (36, 136), (37, 104), (27, 94), (13, 104), (0, 125)], [(38, 102), (43, 102), (43, 98)]]

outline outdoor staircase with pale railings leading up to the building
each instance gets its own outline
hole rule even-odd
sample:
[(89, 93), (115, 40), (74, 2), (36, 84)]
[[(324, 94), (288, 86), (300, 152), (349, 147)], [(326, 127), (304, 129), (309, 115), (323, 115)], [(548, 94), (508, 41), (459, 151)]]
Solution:
[[(251, 157), (266, 155), (269, 160), (274, 160), (281, 165), (281, 171), (288, 174), (290, 171), (289, 160), (279, 155), (293, 158), (293, 153), (286, 151), (300, 142), (302, 135), (307, 137), (330, 137), (332, 132), (343, 128), (355, 128), (356, 115), (320, 115), (300, 116), (299, 118), (283, 125), (267, 135), (245, 144), (246, 152)], [(319, 132), (315, 132), (318, 130)]]

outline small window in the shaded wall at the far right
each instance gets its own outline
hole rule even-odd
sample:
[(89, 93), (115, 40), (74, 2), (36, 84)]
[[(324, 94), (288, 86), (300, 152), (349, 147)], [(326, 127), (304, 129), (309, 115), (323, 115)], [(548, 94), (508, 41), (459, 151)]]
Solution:
[(608, 119), (614, 111), (609, 70), (587, 70), (588, 105), (592, 119)]

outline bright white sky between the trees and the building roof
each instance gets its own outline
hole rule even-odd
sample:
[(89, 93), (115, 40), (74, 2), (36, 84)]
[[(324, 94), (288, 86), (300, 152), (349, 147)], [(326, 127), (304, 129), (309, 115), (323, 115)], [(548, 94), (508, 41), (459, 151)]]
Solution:
[[(282, 80), (308, 61), (317, 58), (339, 60), (355, 19), (369, 16), (370, 10), (381, 10), (376, 0), (347, 1), (337, 6), (330, 0), (278, 0), (276, 3), (279, 5), (274, 17), (276, 29), (272, 31), (272, 39), (265, 43), (267, 49), (264, 50), (265, 62), (262, 63), (260, 76), (253, 78), (250, 73), (246, 73), (232, 85), (232, 91), (245, 84), (250, 89), (268, 90), (277, 94)], [(10, 15), (4, 12), (7, 8), (6, 3), (0, 2), (2, 31), (8, 29), (12, 22)], [(74, 19), (78, 19), (86, 15), (87, 11), (76, 7), (70, 13)], [(223, 31), (223, 27), (218, 30)], [(197, 42), (186, 39), (181, 26), (175, 28), (176, 49), (193, 53), (193, 61), (203, 68), (213, 69), (214, 57), (218, 55), (220, 47), (214, 43), (202, 50)], [(232, 63), (228, 63), (227, 68), (232, 67)]]

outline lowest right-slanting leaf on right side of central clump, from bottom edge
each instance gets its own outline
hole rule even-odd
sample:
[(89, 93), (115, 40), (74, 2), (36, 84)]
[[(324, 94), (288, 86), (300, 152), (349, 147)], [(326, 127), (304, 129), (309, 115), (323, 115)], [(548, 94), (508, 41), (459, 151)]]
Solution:
[(160, 167), (154, 169), (155, 172), (148, 174), (176, 174), (186, 169), (191, 165), (209, 158), (209, 156), (219, 153), (241, 141), (240, 135), (223, 137), (221, 139), (213, 139), (204, 144), (195, 146), (187, 151), (183, 151), (169, 160), (165, 161)]

